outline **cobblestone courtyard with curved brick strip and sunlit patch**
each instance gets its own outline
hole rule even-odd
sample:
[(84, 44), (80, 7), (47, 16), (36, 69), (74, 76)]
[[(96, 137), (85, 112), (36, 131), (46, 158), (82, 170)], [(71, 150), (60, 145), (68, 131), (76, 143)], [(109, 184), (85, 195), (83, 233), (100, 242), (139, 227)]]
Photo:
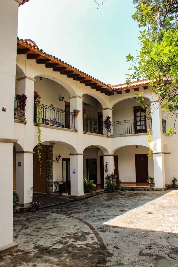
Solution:
[(105, 193), (14, 216), (0, 266), (178, 266), (178, 190)]

